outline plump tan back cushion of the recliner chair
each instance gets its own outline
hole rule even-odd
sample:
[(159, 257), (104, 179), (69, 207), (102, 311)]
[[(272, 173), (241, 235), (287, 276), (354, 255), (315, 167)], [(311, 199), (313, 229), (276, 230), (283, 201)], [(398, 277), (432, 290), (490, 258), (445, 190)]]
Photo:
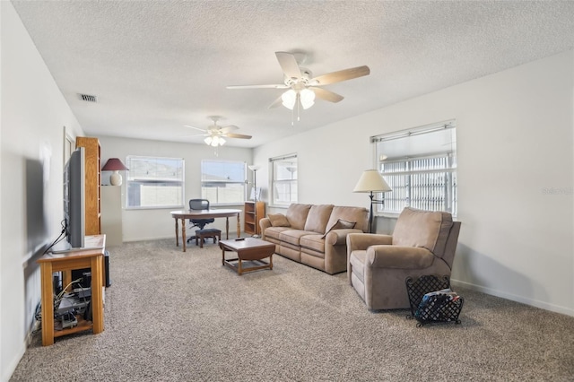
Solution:
[(452, 227), (452, 215), (440, 211), (404, 208), (396, 220), (393, 245), (423, 247), (441, 257)]

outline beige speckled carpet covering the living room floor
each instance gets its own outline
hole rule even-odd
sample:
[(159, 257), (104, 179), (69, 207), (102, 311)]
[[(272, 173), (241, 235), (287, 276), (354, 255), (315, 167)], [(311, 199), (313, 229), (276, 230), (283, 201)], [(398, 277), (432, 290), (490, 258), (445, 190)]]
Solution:
[(105, 331), (41, 335), (13, 381), (572, 381), (574, 317), (456, 289), (461, 325), (370, 312), (346, 273), (274, 256), (239, 276), (213, 244), (110, 248)]

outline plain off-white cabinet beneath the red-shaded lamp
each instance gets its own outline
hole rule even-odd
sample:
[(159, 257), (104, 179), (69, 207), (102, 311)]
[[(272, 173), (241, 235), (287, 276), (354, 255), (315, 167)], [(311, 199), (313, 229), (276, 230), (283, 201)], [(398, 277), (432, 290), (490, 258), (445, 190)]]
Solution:
[(102, 186), (101, 191), (101, 233), (106, 235), (110, 246), (121, 246), (122, 238), (122, 187)]

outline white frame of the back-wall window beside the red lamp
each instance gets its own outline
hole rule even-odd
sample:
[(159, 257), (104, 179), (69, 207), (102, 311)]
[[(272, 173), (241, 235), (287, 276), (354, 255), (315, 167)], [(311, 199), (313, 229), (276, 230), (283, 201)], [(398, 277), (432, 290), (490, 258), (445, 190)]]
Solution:
[[(148, 180), (148, 181), (137, 181), (131, 176), (129, 169), (134, 169), (134, 165), (132, 161), (177, 161), (181, 166), (180, 170), (180, 178), (178, 181), (169, 181), (169, 180)], [(175, 158), (175, 157), (158, 157), (158, 156), (151, 156), (151, 155), (126, 155), (126, 210), (158, 210), (158, 209), (174, 209), (174, 208), (183, 208), (185, 205), (185, 195), (186, 195), (186, 161), (183, 158)], [(179, 167), (177, 167), (179, 168)], [(180, 185), (180, 201), (181, 204), (154, 204), (154, 205), (131, 205), (130, 204), (130, 184), (132, 183), (173, 183)]]

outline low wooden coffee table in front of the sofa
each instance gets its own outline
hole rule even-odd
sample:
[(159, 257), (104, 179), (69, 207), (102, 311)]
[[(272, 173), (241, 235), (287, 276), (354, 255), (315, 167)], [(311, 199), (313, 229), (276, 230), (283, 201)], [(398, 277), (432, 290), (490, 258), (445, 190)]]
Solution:
[[(273, 269), (274, 243), (262, 239), (242, 238), (221, 240), (219, 247), (222, 248), (222, 265), (229, 266), (239, 275), (259, 269)], [(237, 253), (237, 258), (226, 259), (225, 252), (227, 251)], [(263, 260), (265, 257), (269, 257), (269, 262)], [(244, 267), (242, 264), (244, 261), (254, 265)]]

